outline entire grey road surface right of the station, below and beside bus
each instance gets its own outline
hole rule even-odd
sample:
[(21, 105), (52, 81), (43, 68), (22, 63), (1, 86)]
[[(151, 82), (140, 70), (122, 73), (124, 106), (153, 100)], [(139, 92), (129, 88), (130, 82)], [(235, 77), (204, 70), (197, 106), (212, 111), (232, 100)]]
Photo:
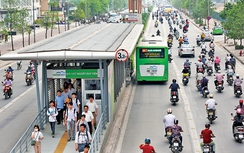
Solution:
[[(156, 34), (156, 30), (153, 25), (154, 21), (150, 22), (150, 28), (148, 35)], [(159, 24), (161, 34), (168, 35), (168, 24), (164, 21), (164, 24)], [(190, 24), (189, 32), (187, 33), (191, 44), (196, 46), (196, 35), (201, 31), (195, 26)], [(180, 30), (181, 36), (182, 30)], [(223, 36), (215, 36), (215, 41), (223, 39)], [(207, 45), (209, 43), (206, 43)], [(139, 144), (144, 142), (146, 137), (151, 138), (152, 145), (156, 151), (171, 152), (168, 148), (168, 141), (164, 137), (164, 124), (162, 122), (164, 115), (166, 115), (167, 108), (173, 109), (173, 114), (176, 115), (179, 120), (179, 125), (182, 126), (184, 132), (183, 136), (183, 152), (194, 152), (192, 148), (192, 138), (190, 138), (190, 129), (188, 119), (186, 118), (186, 112), (184, 110), (184, 102), (182, 96), (186, 96), (188, 103), (190, 104), (191, 113), (193, 115), (194, 123), (196, 126), (195, 132), (199, 135), (201, 130), (204, 129), (204, 125), (209, 123), (205, 111), (205, 102), (207, 98), (203, 98), (195, 87), (195, 65), (192, 64), (192, 77), (187, 86), (183, 86), (181, 83), (181, 70), (183, 63), (186, 59), (189, 59), (192, 63), (197, 62), (197, 56), (199, 55), (200, 48), (196, 47), (196, 57), (178, 57), (178, 42), (174, 40), (172, 47), (173, 63), (169, 64), (170, 77), (167, 83), (146, 83), (140, 84), (135, 87), (134, 99), (132, 102), (131, 110), (128, 111), (128, 118), (125, 118), (124, 127), (122, 128), (122, 134), (120, 143), (118, 144), (117, 151), (121, 153), (127, 152), (139, 152)], [(227, 54), (218, 46), (215, 47), (215, 56), (219, 56), (223, 61), (221, 62), (222, 73), (224, 71), (224, 57)], [(177, 74), (176, 74), (177, 73)], [(237, 62), (237, 73), (244, 77), (243, 65)], [(177, 106), (172, 106), (169, 102), (169, 89), (168, 86), (171, 80), (176, 78), (181, 87), (181, 97)], [(209, 79), (209, 90), (214, 95), (214, 99), (217, 100), (217, 116), (218, 118), (211, 125), (211, 129), (216, 135), (214, 141), (218, 152), (230, 153), (238, 152), (243, 149), (242, 144), (234, 141), (232, 136), (232, 121), (230, 113), (234, 113), (234, 106), (238, 104), (238, 98), (234, 97), (233, 87), (224, 84), (224, 91), (217, 93), (214, 86), (214, 76), (207, 77)], [(184, 92), (183, 92), (184, 90)], [(183, 93), (187, 93), (183, 95)], [(128, 122), (128, 123), (127, 123)], [(200, 143), (201, 140), (199, 140)], [(228, 147), (227, 147), (228, 146)]]

